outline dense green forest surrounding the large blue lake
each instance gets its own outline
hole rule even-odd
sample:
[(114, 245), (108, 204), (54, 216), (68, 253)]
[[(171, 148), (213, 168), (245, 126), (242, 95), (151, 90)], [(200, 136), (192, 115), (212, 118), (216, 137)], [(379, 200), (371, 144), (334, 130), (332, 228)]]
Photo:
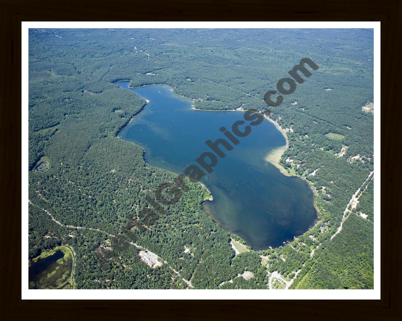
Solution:
[[(318, 225), (286, 246), (235, 255), (233, 236), (201, 209), (207, 191), (189, 181), (156, 224), (137, 218), (177, 175), (117, 138), (146, 102), (115, 81), (166, 83), (198, 109), (263, 110), (264, 93), (303, 57), (320, 68), (270, 117), (288, 129), (281, 164), (317, 190)], [(373, 180), (330, 239), (373, 171), (367, 101), (372, 30), (31, 29), (29, 259), (70, 246), (76, 288), (267, 288), (267, 273), (299, 270), (293, 288), (373, 288)], [(166, 263), (151, 268), (133, 244)]]

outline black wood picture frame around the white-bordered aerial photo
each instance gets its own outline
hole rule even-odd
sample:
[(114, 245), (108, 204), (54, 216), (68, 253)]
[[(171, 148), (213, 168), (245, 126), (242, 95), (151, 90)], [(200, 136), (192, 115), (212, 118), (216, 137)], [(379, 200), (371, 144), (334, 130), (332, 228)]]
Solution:
[[(0, 171), (3, 320), (352, 319), (400, 320), (399, 96), (402, 2), (383, 1), (0, 1)], [(36, 301), (21, 300), (21, 21), (381, 21), (381, 300)], [(379, 159), (376, 159), (379, 161)], [(10, 166), (11, 165), (11, 166)], [(26, 187), (24, 187), (26, 188)], [(334, 290), (336, 291), (336, 290)], [(353, 290), (351, 290), (353, 291)], [(105, 293), (107, 295), (107, 293)], [(168, 295), (168, 293), (166, 293)], [(398, 299), (399, 297), (399, 299)], [(245, 298), (246, 299), (246, 298)], [(302, 298), (301, 298), (302, 299)]]

